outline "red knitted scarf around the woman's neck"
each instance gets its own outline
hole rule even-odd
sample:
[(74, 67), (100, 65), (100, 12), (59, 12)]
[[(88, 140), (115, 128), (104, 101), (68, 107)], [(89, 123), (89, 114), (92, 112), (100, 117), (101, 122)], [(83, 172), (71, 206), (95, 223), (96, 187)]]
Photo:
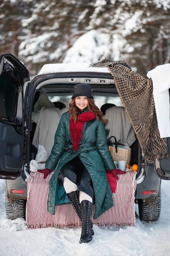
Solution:
[(84, 112), (78, 116), (78, 121), (70, 119), (70, 137), (72, 139), (73, 150), (79, 149), (79, 141), (82, 139), (84, 122), (95, 119), (95, 114), (92, 112)]

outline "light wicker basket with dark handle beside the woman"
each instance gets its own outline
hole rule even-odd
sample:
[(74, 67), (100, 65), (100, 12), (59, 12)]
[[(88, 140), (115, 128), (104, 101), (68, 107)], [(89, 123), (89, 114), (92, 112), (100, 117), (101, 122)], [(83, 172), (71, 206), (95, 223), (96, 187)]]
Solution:
[[(114, 136), (111, 136), (108, 141)], [(126, 161), (127, 164), (130, 164), (130, 157), (131, 157), (131, 148), (123, 145), (117, 144), (117, 140), (115, 139), (115, 143), (111, 143), (109, 146), (110, 153), (112, 155), (113, 161), (117, 162), (120, 160)]]

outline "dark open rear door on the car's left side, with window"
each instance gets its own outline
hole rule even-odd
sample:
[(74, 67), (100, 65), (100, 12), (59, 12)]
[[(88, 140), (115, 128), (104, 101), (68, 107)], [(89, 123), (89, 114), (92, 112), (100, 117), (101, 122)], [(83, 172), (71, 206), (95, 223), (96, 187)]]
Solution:
[(23, 166), (23, 85), (26, 67), (12, 54), (0, 56), (0, 178), (15, 179)]

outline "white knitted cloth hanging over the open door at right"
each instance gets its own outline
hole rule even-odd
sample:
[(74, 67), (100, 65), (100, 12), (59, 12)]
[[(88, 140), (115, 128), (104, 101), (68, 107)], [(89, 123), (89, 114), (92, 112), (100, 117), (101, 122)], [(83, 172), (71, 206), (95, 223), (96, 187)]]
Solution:
[(170, 137), (170, 63), (159, 65), (147, 73), (152, 79), (153, 97), (161, 138)]

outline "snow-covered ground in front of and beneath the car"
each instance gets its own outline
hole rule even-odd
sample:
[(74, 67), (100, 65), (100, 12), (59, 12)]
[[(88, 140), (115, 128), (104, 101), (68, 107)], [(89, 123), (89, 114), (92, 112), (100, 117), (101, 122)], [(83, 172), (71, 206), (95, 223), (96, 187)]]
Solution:
[[(79, 244), (81, 228), (27, 229), (22, 218), (7, 220), (5, 181), (0, 180), (0, 256), (168, 256), (170, 181), (162, 181), (161, 216), (136, 227), (97, 227), (90, 243)], [(137, 207), (136, 207), (137, 211)]]

